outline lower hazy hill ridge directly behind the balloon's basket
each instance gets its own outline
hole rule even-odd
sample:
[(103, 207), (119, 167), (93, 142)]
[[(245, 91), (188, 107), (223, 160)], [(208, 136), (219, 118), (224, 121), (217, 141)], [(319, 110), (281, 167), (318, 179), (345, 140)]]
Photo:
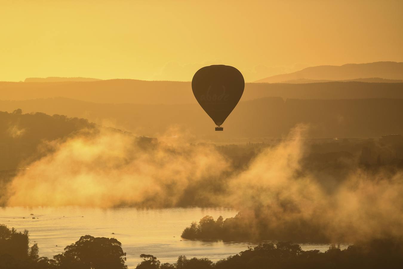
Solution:
[[(136, 136), (159, 137), (170, 127), (189, 138), (231, 139), (281, 138), (298, 123), (310, 124), (312, 138), (367, 138), (403, 134), (403, 99), (302, 100), (278, 97), (241, 101), (222, 125), (214, 122), (198, 104), (98, 104), (67, 98), (0, 101), (0, 109), (43, 111), (82, 117), (90, 122), (125, 129)], [(29, 119), (29, 117), (27, 117)]]

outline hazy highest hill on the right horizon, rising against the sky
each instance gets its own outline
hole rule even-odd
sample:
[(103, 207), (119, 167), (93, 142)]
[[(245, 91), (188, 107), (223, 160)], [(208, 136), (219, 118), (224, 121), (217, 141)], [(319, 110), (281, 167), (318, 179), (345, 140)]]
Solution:
[(346, 64), (341, 66), (321, 65), (307, 67), (289, 74), (266, 77), (255, 82), (280, 83), (296, 79), (315, 80), (349, 80), (357, 78), (381, 77), (384, 79), (403, 79), (403, 63), (376, 62), (363, 64)]

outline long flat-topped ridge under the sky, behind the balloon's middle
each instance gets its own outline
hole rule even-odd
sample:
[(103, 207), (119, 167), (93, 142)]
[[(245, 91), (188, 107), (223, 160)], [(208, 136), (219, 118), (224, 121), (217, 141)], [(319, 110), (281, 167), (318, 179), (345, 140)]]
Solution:
[[(246, 83), (241, 101), (271, 96), (284, 99), (403, 98), (403, 83)], [(0, 82), (0, 100), (52, 97), (115, 104), (197, 104), (191, 82), (135, 79)]]

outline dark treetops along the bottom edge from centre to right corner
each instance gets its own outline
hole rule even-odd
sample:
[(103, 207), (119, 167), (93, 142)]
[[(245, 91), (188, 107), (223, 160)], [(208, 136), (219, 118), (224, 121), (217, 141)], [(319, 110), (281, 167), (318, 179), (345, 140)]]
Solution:
[(141, 257), (144, 261), (136, 269), (401, 268), (403, 244), (397, 240), (373, 240), (345, 250), (332, 245), (324, 253), (303, 251), (299, 245), (289, 242), (260, 244), (216, 263), (206, 258), (179, 256), (176, 263), (161, 264), (152, 255), (142, 254)]

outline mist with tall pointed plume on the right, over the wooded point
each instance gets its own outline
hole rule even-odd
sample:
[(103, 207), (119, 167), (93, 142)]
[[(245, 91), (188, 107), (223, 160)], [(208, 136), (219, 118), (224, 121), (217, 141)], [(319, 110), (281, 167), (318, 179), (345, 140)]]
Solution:
[[(330, 189), (328, 177), (305, 171), (306, 126), (268, 148), (230, 182), (230, 199), (247, 227), (315, 229), (334, 240), (403, 235), (403, 173), (371, 172), (358, 166)], [(323, 176), (323, 175), (322, 175)], [(241, 197), (241, 198), (239, 198)], [(307, 226), (309, 223), (309, 227)], [(308, 232), (309, 234), (309, 232)], [(320, 237), (320, 236), (318, 236)]]

